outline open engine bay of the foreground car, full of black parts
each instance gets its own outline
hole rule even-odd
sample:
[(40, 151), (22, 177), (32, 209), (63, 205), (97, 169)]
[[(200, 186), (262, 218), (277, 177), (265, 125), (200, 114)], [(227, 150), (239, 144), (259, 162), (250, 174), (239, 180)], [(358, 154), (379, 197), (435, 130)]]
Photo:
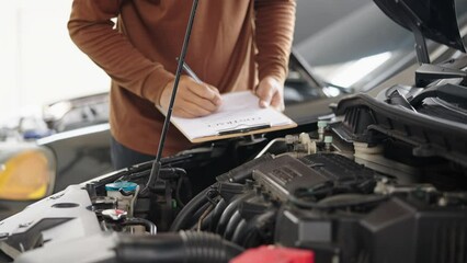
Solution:
[[(397, 111), (405, 118), (394, 122)], [(162, 159), (149, 186), (151, 162), (69, 186), (2, 222), (14, 229), (3, 236), (2, 256), (30, 262), (39, 254), (55, 262), (69, 256), (56, 251), (71, 245), (94, 256), (83, 262), (227, 262), (244, 250), (277, 245), (312, 251), (316, 262), (465, 260), (466, 130), (431, 139), (455, 125), (432, 122), (435, 130), (423, 129), (419, 116), (409, 130), (405, 108), (364, 95), (341, 101), (335, 112), (309, 133), (266, 145), (232, 140), (237, 152), (238, 144), (249, 145), (244, 153), (257, 144), (261, 150), (200, 192), (190, 193), (196, 176), (212, 174), (206, 160), (213, 158), (203, 156), (218, 155), (214, 144)], [(398, 136), (399, 129), (407, 135)], [(426, 150), (451, 139), (460, 148)]]

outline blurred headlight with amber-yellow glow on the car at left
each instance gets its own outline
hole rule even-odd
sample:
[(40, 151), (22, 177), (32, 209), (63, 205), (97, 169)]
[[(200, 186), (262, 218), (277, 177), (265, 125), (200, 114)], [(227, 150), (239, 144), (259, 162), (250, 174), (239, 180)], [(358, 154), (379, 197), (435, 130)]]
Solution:
[(55, 159), (53, 153), (37, 146), (1, 149), (0, 199), (39, 199), (53, 192)]

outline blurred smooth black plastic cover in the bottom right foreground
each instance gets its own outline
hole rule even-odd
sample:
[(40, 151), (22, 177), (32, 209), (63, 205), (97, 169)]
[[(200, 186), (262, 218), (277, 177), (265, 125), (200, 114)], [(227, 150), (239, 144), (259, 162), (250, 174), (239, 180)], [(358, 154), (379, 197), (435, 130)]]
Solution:
[(284, 205), (275, 242), (315, 251), (317, 262), (467, 262), (467, 209), (392, 197), (368, 213)]

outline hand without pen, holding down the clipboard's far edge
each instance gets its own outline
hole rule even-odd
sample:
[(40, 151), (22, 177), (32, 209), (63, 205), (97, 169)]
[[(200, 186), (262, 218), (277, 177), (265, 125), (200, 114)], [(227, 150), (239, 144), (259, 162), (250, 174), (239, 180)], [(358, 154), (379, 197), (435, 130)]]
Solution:
[(284, 111), (284, 85), (274, 77), (263, 78), (255, 89), (260, 98), (260, 107), (272, 106), (277, 111)]

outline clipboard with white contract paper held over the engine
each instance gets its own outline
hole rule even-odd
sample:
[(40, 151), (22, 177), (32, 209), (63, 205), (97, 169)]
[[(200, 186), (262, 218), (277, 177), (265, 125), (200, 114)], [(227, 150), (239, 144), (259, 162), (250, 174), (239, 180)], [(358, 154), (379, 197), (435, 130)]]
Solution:
[[(159, 107), (159, 110), (161, 108)], [(283, 113), (272, 107), (260, 107), (258, 96), (251, 91), (224, 94), (220, 108), (208, 116), (197, 118), (172, 116), (171, 123), (193, 144), (297, 126)]]

